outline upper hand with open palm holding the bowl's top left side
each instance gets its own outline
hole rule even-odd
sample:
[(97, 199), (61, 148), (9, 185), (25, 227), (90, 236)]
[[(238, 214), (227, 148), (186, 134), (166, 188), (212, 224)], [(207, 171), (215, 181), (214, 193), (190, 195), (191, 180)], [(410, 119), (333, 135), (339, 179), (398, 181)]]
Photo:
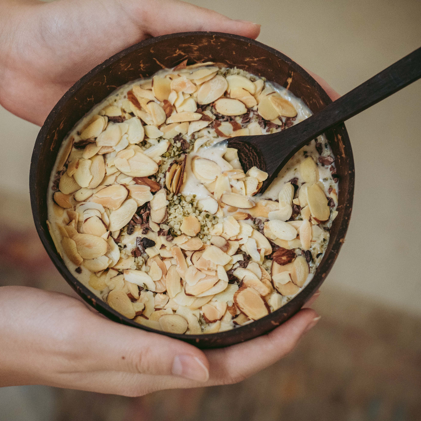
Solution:
[(0, 103), (42, 125), (88, 71), (146, 38), (218, 31), (256, 38), (260, 25), (178, 0), (5, 0), (0, 15)]

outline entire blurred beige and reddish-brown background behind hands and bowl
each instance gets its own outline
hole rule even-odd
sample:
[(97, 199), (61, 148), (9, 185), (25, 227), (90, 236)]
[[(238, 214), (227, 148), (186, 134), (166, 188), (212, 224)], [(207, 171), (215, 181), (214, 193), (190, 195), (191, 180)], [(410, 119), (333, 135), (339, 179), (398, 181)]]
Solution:
[[(419, 0), (191, 3), (262, 24), (259, 41), (340, 94), (421, 46)], [(351, 224), (314, 305), (322, 320), (284, 360), (237, 385), (139, 399), (3, 388), (0, 419), (420, 420), (420, 110), (421, 80), (346, 123), (356, 167)], [(0, 285), (71, 293), (33, 229), (28, 178), (39, 128), (1, 107), (0, 127)]]

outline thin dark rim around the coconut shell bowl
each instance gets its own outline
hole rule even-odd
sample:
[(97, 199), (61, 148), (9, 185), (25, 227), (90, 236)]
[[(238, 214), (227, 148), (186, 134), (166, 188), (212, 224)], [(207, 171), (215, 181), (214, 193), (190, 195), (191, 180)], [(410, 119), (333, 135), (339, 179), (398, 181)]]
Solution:
[[(282, 324), (283, 322), (288, 320), (290, 317), (292, 317), (293, 314), (298, 312), (300, 308), (292, 312), (288, 310), (293, 310), (293, 307), (296, 305), (297, 302), (301, 302), (302, 304), (304, 304), (314, 294), (314, 292), (319, 288), (319, 286), (325, 280), (325, 277), (327, 276), (331, 267), (333, 266), (333, 263), (335, 262), (338, 256), (338, 252), (343, 244), (343, 240), (349, 226), (349, 218), (352, 212), (352, 201), (353, 201), (353, 194), (354, 194), (354, 159), (353, 159), (353, 154), (352, 154), (352, 147), (348, 139), (348, 136), (344, 136), (344, 139), (342, 139), (342, 141), (344, 141), (346, 150), (349, 151), (349, 153), (347, 154), (347, 159), (348, 159), (350, 174), (349, 174), (348, 189), (346, 191), (347, 193), (347, 199), (345, 202), (346, 206), (344, 208), (344, 215), (341, 221), (341, 226), (339, 226), (338, 228), (336, 241), (333, 243), (330, 252), (328, 254), (325, 253), (325, 256), (323, 256), (322, 261), (317, 267), (317, 270), (314, 273), (312, 280), (310, 280), (310, 282), (306, 285), (306, 287), (303, 290), (301, 290), (296, 296), (290, 299), (290, 301), (288, 301), (286, 304), (280, 307), (280, 309), (277, 309), (274, 312), (268, 314), (267, 316), (259, 320), (253, 321), (247, 325), (242, 325), (238, 328), (226, 330), (223, 332), (203, 333), (200, 335), (168, 333), (161, 330), (155, 330), (144, 325), (140, 325), (136, 322), (133, 322), (133, 320), (126, 318), (122, 314), (116, 312), (114, 309), (112, 309), (106, 302), (104, 302), (101, 298), (99, 298), (94, 293), (92, 293), (91, 290), (89, 290), (87, 287), (85, 287), (85, 285), (83, 285), (79, 280), (76, 279), (76, 277), (70, 272), (70, 270), (64, 264), (64, 261), (59, 257), (59, 254), (57, 253), (55, 247), (54, 248), (51, 247), (51, 243), (48, 240), (48, 237), (51, 238), (51, 236), (48, 230), (46, 230), (43, 227), (43, 223), (40, 220), (40, 214), (38, 212), (38, 205), (37, 205), (38, 189), (36, 188), (38, 160), (42, 153), (43, 142), (48, 134), (48, 131), (51, 128), (51, 125), (53, 124), (53, 121), (56, 115), (59, 113), (62, 106), (73, 96), (73, 94), (76, 91), (78, 91), (85, 83), (87, 83), (97, 73), (101, 72), (103, 69), (112, 65), (113, 63), (120, 60), (124, 56), (132, 53), (133, 51), (138, 50), (139, 48), (144, 48), (148, 45), (158, 44), (163, 40), (168, 40), (172, 38), (179, 38), (179, 37), (186, 37), (186, 36), (204, 36), (204, 35), (216, 36), (216, 37), (228, 37), (233, 40), (246, 42), (248, 44), (256, 45), (259, 48), (263, 48), (269, 53), (272, 53), (274, 56), (277, 56), (282, 61), (285, 61), (285, 63), (287, 63), (294, 71), (301, 74), (301, 76), (303, 76), (304, 79), (306, 79), (309, 83), (311, 83), (312, 87), (317, 90), (317, 93), (320, 95), (320, 97), (324, 101), (325, 106), (332, 102), (332, 100), (330, 99), (326, 91), (320, 86), (320, 84), (314, 79), (314, 77), (312, 77), (303, 67), (299, 66), (295, 61), (290, 59), (288, 56), (285, 56), (285, 54), (281, 53), (280, 51), (277, 51), (276, 49), (269, 47), (268, 45), (260, 43), (259, 41), (252, 40), (250, 38), (243, 37), (241, 35), (227, 34), (224, 32), (210, 32), (210, 31), (178, 32), (174, 34), (161, 35), (158, 37), (149, 38), (147, 40), (141, 41), (140, 43), (136, 43), (134, 45), (131, 45), (128, 48), (125, 48), (124, 50), (114, 54), (109, 59), (103, 61), (101, 64), (94, 67), (91, 71), (89, 71), (84, 76), (82, 76), (79, 80), (77, 80), (77, 82), (75, 82), (72, 85), (72, 87), (69, 88), (67, 92), (64, 93), (64, 95), (59, 99), (59, 101), (56, 103), (56, 105), (53, 107), (53, 109), (49, 113), (48, 117), (45, 119), (45, 122), (43, 126), (41, 127), (38, 133), (36, 142), (35, 142), (32, 158), (31, 158), (30, 173), (29, 173), (29, 190), (30, 190), (32, 215), (34, 218), (35, 227), (37, 229), (40, 240), (43, 243), (43, 246), (48, 253), (48, 256), (51, 258), (51, 260), (53, 261), (53, 264), (59, 270), (60, 274), (64, 277), (64, 279), (78, 293), (78, 295), (81, 296), (88, 304), (90, 304), (93, 308), (97, 310), (100, 309), (100, 312), (104, 314), (105, 316), (107, 316), (107, 318), (109, 318), (110, 320), (120, 322), (122, 324), (136, 327), (136, 328), (146, 330), (149, 332), (160, 333), (166, 336), (170, 336), (172, 338), (187, 341), (191, 344), (200, 346), (201, 348), (202, 347), (210, 348), (210, 347), (226, 346), (224, 344), (218, 344), (218, 341), (216, 341), (216, 338), (221, 339), (222, 341), (224, 341), (224, 339), (226, 339), (227, 337), (239, 338), (239, 340), (237, 341), (235, 340), (234, 342), (231, 341), (233, 344), (247, 340), (247, 338), (241, 339), (242, 333), (245, 333), (246, 330), (250, 331), (250, 328), (251, 330), (256, 330), (256, 329), (253, 329), (253, 325), (255, 325), (256, 322), (258, 322), (259, 320), (266, 319), (266, 317), (272, 317), (272, 320), (271, 320), (271, 324), (273, 326), (272, 329), (276, 328), (278, 325)], [(116, 89), (118, 89), (118, 87)], [(109, 93), (109, 95), (110, 94), (111, 93)], [(343, 128), (343, 130), (346, 133), (346, 128), (343, 123), (342, 125), (339, 125), (338, 127)], [(50, 177), (50, 174), (48, 174), (48, 177)], [(322, 271), (323, 273), (321, 273)], [(318, 278), (320, 279), (317, 281)], [(282, 315), (286, 316), (288, 314), (290, 314), (290, 317), (288, 317), (288, 319), (283, 320), (281, 322), (276, 321), (276, 319), (279, 320), (282, 317)], [(268, 331), (266, 331), (266, 333), (268, 333)], [(264, 334), (264, 333), (261, 333), (261, 334)], [(259, 336), (259, 335), (255, 335), (255, 336)]]

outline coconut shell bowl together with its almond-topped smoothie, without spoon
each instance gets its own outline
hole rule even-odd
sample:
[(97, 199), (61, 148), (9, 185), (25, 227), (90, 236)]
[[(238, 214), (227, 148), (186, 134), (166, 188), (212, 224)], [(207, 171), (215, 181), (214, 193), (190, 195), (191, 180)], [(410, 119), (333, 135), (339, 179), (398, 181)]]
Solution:
[[(200, 47), (198, 47), (200, 46)], [(32, 156), (32, 211), (64, 278), (112, 320), (202, 348), (272, 330), (333, 265), (354, 186), (344, 125), (269, 188), (226, 139), (288, 130), (330, 103), (261, 43), (195, 32), (144, 41), (59, 101)]]

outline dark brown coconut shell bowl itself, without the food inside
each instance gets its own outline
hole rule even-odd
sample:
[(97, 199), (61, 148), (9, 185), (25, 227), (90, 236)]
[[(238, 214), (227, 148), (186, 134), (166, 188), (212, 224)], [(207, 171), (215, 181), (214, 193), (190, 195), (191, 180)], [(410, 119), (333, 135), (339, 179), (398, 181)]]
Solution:
[(35, 143), (29, 180), (30, 194), (35, 226), (45, 250), (64, 279), (93, 308), (109, 319), (125, 325), (178, 338), (199, 348), (214, 348), (237, 344), (269, 332), (298, 312), (320, 287), (338, 256), (348, 228), (354, 192), (354, 160), (345, 125), (329, 130), (326, 136), (335, 155), (340, 177), (338, 215), (330, 229), (330, 241), (325, 256), (312, 281), (285, 306), (248, 325), (206, 335), (166, 333), (127, 319), (80, 283), (57, 253), (45, 222), (47, 195), (52, 194), (48, 191), (48, 182), (62, 140), (95, 104), (119, 86), (139, 77), (149, 77), (163, 67), (174, 67), (187, 58), (188, 64), (213, 61), (266, 77), (267, 80), (288, 88), (313, 113), (332, 102), (322, 87), (298, 64), (257, 41), (218, 32), (185, 32), (151, 38), (121, 51), (95, 67), (77, 81), (56, 104)]

